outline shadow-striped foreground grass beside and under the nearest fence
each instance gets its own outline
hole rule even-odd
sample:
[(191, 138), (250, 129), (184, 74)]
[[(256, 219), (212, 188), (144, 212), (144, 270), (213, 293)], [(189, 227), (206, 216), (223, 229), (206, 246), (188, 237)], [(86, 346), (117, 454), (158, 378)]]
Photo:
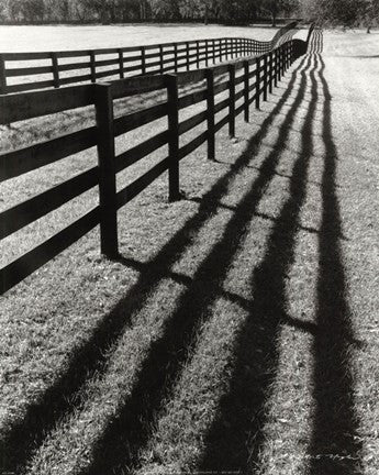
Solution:
[(378, 34), (315, 45), (216, 162), (183, 161), (180, 201), (163, 177), (121, 210), (118, 262), (94, 230), (1, 297), (4, 473), (379, 473)]

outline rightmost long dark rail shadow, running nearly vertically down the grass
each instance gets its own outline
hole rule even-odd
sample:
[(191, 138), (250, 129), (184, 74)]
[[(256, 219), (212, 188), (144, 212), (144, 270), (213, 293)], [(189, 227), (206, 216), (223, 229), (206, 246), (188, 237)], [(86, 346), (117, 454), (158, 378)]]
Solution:
[(319, 281), (316, 324), (313, 343), (313, 434), (310, 444), (311, 475), (363, 473), (361, 443), (356, 438), (358, 420), (354, 410), (350, 351), (354, 334), (346, 298), (343, 266), (342, 222), (336, 195), (337, 150), (332, 135), (331, 95), (324, 78), (322, 137), (325, 146), (322, 176), (322, 222), (319, 233)]

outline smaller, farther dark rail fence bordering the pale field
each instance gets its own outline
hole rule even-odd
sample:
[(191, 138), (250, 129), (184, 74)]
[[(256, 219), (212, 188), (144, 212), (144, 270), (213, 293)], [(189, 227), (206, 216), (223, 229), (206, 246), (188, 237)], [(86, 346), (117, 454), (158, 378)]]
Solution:
[[(136, 75), (178, 73), (241, 56), (260, 55), (278, 46), (280, 38), (297, 24), (292, 22), (281, 27), (269, 42), (223, 37), (122, 48), (0, 53), (0, 95), (96, 82), (115, 76), (123, 79)], [(36, 60), (42, 65), (35, 65)], [(14, 64), (15, 67), (10, 67)], [(40, 76), (37, 80), (36, 76)], [(13, 84), (9, 84), (9, 79)], [(18, 79), (21, 82), (14, 84)]]

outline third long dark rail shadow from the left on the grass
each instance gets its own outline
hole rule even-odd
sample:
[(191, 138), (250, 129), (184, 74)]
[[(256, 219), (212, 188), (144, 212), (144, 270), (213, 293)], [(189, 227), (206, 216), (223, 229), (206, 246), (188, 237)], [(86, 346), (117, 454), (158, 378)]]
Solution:
[(313, 151), (319, 62), (315, 55), (309, 58), (312, 63), (311, 101), (302, 126), (301, 150), (290, 178), (289, 197), (276, 219), (265, 257), (252, 276), (254, 300), (235, 342), (228, 391), (220, 401), (219, 413), (205, 439), (201, 471), (254, 473), (264, 442), (265, 404), (277, 372), (278, 333), (281, 324), (288, 321), (287, 275), (294, 258), (298, 220), (306, 197), (308, 168)]

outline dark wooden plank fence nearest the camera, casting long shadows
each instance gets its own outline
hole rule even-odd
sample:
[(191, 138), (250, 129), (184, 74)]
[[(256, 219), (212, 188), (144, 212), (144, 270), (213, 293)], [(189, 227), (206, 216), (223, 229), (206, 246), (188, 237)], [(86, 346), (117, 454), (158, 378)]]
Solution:
[[(1, 96), (0, 124), (91, 104), (96, 107), (97, 124), (0, 155), (0, 181), (69, 157), (94, 145), (98, 151), (98, 166), (2, 211), (0, 213), (2, 223), (0, 240), (96, 186), (99, 187), (99, 203), (47, 241), (1, 268), (0, 294), (23, 280), (98, 224), (100, 224), (101, 253), (110, 258), (116, 257), (119, 254), (118, 210), (167, 170), (169, 199), (178, 199), (180, 161), (204, 142), (208, 143), (208, 158), (214, 159), (216, 132), (227, 124), (230, 135), (234, 136), (235, 118), (243, 112), (245, 121), (248, 121), (250, 106), (254, 104), (259, 109), (260, 101), (267, 100), (268, 93), (278, 85), (287, 68), (305, 53), (306, 47), (308, 42), (290, 40), (259, 57), (230, 62), (196, 71), (152, 75), (122, 79), (112, 84)], [(199, 81), (205, 84), (205, 87), (179, 96), (181, 86)], [(114, 99), (153, 90), (166, 90), (167, 100), (114, 119)], [(218, 96), (223, 91), (226, 91), (227, 97), (216, 101)], [(200, 102), (205, 103), (204, 111), (179, 121), (180, 110)], [(227, 110), (227, 114), (216, 122), (215, 115), (222, 110)], [(168, 119), (166, 131), (115, 155), (114, 140), (116, 136), (164, 117)], [(180, 136), (201, 123), (207, 124), (207, 130), (186, 145), (180, 146)], [(164, 145), (168, 145), (168, 154), (163, 161), (125, 188), (116, 190), (118, 173)]]

